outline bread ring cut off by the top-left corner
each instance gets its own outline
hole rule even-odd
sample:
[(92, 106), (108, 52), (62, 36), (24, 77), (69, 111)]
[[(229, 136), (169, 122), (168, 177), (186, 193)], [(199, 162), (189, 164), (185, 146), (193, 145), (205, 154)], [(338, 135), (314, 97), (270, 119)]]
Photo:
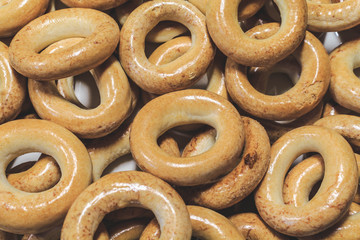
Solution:
[(31, 20), (42, 15), (49, 0), (11, 0), (0, 3), (0, 38), (16, 34)]

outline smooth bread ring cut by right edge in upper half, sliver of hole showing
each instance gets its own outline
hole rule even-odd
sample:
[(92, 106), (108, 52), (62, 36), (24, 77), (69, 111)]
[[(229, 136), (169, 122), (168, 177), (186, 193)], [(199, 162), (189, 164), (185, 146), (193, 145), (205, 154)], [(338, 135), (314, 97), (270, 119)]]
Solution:
[(360, 39), (344, 43), (330, 54), (331, 96), (341, 106), (357, 113), (360, 113), (360, 84), (354, 69), (360, 67), (359, 56)]

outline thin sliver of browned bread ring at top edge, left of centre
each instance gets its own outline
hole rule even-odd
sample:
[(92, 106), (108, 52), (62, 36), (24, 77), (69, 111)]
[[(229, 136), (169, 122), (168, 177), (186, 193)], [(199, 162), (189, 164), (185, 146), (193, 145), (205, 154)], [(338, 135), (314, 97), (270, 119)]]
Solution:
[[(128, 0), (61, 0), (66, 6), (72, 8), (92, 8), (97, 10), (109, 10), (124, 4)], [(131, 0), (132, 1), (132, 0)]]

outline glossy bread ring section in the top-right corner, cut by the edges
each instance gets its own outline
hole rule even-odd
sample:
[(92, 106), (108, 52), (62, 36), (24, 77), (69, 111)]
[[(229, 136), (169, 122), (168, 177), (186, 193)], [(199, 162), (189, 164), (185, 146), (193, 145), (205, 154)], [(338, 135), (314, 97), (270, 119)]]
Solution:
[(307, 7), (310, 31), (337, 32), (360, 24), (360, 3), (357, 0), (335, 3), (307, 0)]

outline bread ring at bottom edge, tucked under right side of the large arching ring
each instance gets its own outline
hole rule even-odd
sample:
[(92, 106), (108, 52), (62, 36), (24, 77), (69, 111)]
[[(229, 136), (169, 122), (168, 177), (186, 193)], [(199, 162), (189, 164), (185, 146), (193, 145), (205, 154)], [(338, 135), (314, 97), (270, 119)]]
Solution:
[[(187, 206), (190, 213), (192, 236), (200, 239), (245, 240), (244, 236), (223, 215), (199, 206)], [(144, 229), (140, 240), (159, 239), (160, 228), (153, 219)]]

